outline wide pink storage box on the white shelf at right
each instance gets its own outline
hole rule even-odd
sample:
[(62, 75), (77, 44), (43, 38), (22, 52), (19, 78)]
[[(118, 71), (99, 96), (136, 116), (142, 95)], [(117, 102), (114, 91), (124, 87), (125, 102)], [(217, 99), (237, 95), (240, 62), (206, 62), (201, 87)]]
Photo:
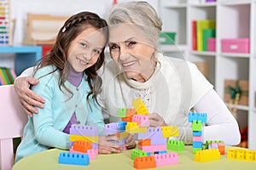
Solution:
[(249, 38), (222, 39), (221, 51), (224, 53), (245, 53), (250, 51)]

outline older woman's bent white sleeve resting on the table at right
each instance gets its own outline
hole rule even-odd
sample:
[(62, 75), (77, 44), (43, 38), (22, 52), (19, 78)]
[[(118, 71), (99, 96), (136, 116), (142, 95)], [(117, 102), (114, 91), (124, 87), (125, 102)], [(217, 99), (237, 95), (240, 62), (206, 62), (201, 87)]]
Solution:
[(194, 109), (197, 112), (207, 113), (204, 142), (206, 140), (223, 140), (227, 145), (240, 143), (241, 136), (236, 119), (213, 89), (195, 104)]

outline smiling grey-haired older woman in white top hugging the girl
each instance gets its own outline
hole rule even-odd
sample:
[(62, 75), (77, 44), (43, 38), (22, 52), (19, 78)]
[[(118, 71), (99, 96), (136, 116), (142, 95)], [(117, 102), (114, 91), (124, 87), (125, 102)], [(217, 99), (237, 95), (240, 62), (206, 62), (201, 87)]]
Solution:
[[(162, 23), (146, 2), (119, 3), (107, 15), (109, 52), (112, 60), (102, 68), (102, 108), (110, 121), (119, 121), (119, 108), (132, 107), (141, 98), (150, 113), (150, 126), (179, 127), (179, 137), (192, 143), (189, 111), (207, 113), (204, 140), (223, 140), (227, 145), (240, 142), (239, 127), (212, 84), (189, 61), (166, 57), (158, 48)], [(26, 71), (27, 76), (32, 75)], [(15, 89), (27, 114), (44, 107), (44, 99), (29, 90), (38, 80), (15, 80)]]

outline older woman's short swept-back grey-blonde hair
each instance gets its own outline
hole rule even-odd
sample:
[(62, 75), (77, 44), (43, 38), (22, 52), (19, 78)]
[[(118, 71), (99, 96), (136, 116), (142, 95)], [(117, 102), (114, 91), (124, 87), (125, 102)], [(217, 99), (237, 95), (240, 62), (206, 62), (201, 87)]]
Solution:
[(106, 20), (109, 25), (135, 24), (143, 29), (145, 37), (154, 47), (158, 45), (162, 21), (154, 8), (147, 2), (117, 3), (108, 11)]

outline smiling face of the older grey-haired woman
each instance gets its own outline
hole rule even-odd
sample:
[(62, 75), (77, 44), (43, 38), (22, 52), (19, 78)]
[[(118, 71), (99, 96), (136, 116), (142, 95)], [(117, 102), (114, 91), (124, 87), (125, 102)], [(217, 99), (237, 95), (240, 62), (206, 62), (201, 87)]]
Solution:
[(111, 26), (109, 50), (112, 59), (125, 73), (125, 77), (145, 82), (154, 72), (154, 47), (149, 44), (142, 29), (131, 24)]

